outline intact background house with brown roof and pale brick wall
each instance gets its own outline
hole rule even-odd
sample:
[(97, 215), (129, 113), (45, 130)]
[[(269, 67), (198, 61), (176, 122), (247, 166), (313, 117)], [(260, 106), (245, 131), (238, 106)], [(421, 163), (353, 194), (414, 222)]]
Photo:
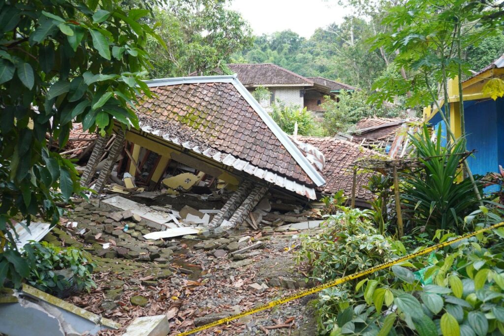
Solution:
[(279, 99), (286, 105), (306, 107), (323, 117), (322, 104), (326, 96), (337, 99), (341, 90), (355, 91), (355, 87), (322, 77), (303, 77), (276, 64), (227, 64), (249, 92), (258, 87), (270, 91), (269, 99), (262, 99), (261, 106), (271, 111), (271, 105)]

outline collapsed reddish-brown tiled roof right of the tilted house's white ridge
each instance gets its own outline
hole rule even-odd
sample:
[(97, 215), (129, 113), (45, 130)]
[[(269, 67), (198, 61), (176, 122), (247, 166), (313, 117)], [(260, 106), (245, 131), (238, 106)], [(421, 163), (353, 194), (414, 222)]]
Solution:
[[(317, 147), (326, 159), (323, 176), (326, 184), (317, 188), (320, 192), (333, 194), (343, 189), (345, 195), (351, 197), (353, 185), (353, 162), (360, 158), (378, 155), (377, 152), (362, 148), (359, 145), (335, 138), (297, 137), (300, 142)], [(363, 188), (369, 181), (370, 174), (357, 174), (357, 188), (355, 198), (372, 200), (370, 191)]]

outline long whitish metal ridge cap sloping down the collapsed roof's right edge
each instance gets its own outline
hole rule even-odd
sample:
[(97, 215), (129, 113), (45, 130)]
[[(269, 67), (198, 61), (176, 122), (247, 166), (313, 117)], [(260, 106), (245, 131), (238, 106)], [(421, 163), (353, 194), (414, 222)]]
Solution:
[(294, 160), (299, 164), (299, 166), (304, 170), (308, 177), (317, 185), (321, 186), (326, 183), (326, 180), (317, 171), (315, 167), (308, 161), (308, 159), (301, 153), (296, 145), (289, 139), (287, 134), (277, 125), (277, 123), (271, 118), (271, 116), (266, 112), (258, 101), (251, 95), (250, 92), (241, 84), (241, 82), (235, 77), (232, 81), (238, 92), (241, 93), (243, 98), (250, 104), (250, 106), (259, 114), (261, 119), (266, 123), (268, 128), (271, 129), (273, 134), (277, 137), (282, 145), (285, 146), (287, 151), (292, 155)]

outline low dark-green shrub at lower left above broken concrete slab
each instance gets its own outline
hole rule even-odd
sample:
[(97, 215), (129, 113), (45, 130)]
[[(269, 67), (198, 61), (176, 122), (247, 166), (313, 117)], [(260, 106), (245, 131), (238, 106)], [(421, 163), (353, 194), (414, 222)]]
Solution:
[(26, 244), (23, 254), (32, 262), (27, 281), (41, 291), (65, 297), (72, 292), (96, 288), (91, 279), (96, 265), (77, 248), (40, 242)]

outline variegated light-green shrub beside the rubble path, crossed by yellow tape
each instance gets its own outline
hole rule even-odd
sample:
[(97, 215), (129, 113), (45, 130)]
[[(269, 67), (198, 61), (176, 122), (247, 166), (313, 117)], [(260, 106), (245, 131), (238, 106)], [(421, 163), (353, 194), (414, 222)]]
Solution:
[[(301, 246), (296, 260), (305, 262), (311, 278), (328, 282), (378, 263), (392, 260), (404, 251), (400, 242), (378, 234), (369, 220), (369, 211), (339, 207), (340, 212), (329, 217), (323, 233), (310, 237), (301, 235)], [(377, 272), (380, 278), (383, 272)], [(316, 303), (319, 328), (322, 332), (332, 330), (336, 316), (350, 303), (356, 302), (352, 295), (356, 282), (347, 282), (324, 290)]]

